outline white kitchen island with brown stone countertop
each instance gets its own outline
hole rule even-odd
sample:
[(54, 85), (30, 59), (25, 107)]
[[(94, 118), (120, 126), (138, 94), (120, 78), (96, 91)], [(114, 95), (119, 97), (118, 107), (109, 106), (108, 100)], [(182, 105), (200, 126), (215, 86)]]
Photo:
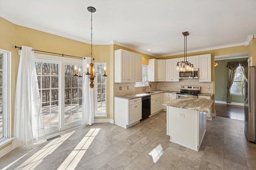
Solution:
[(198, 151), (206, 132), (206, 113), (214, 100), (181, 97), (163, 104), (170, 141)]

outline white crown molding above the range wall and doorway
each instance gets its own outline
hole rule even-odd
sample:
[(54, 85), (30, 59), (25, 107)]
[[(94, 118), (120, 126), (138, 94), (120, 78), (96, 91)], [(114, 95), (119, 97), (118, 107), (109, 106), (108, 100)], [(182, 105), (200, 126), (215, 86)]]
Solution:
[[(191, 50), (188, 51), (187, 53), (196, 53), (196, 52), (201, 52), (201, 51), (209, 51), (209, 50), (216, 50), (216, 49), (224, 49), (228, 47), (237, 47), (237, 46), (242, 46), (244, 43), (236, 43), (236, 44), (230, 44), (230, 45), (222, 45), (222, 46), (217, 46), (217, 47), (210, 47), (210, 48), (205, 48), (205, 49), (197, 49), (197, 50)], [(166, 54), (166, 55), (159, 55), (157, 58), (160, 57), (168, 57), (168, 56), (173, 56), (173, 55), (180, 55), (184, 54), (184, 52), (179, 52), (179, 53), (171, 53), (171, 54)]]

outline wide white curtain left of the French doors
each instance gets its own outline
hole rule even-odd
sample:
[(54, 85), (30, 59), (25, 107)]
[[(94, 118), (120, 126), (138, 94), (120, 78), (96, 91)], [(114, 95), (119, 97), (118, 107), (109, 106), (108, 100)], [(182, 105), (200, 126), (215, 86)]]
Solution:
[(45, 137), (34, 51), (22, 46), (16, 84), (14, 141), (18, 147)]

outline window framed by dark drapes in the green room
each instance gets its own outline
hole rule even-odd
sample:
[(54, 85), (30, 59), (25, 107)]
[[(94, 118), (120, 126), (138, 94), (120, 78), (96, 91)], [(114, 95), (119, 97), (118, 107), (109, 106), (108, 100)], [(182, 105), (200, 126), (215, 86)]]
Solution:
[(238, 68), (236, 69), (236, 74), (234, 77), (234, 82), (230, 89), (230, 94), (232, 95), (242, 95), (242, 82), (244, 79), (244, 73), (242, 70), (242, 66), (239, 64)]

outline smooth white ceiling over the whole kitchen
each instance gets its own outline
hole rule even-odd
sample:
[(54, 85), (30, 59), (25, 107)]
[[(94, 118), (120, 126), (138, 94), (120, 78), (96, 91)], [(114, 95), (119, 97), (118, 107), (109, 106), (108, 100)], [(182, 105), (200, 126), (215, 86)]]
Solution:
[[(256, 0), (0, 0), (17, 25), (90, 43), (130, 47), (156, 57), (244, 45), (256, 33)], [(151, 51), (147, 51), (151, 49)]]

